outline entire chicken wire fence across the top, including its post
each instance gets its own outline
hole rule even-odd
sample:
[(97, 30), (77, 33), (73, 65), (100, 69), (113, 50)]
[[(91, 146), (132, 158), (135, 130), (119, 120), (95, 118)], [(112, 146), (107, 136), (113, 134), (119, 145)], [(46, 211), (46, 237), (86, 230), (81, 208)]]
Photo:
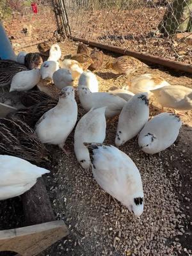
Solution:
[[(13, 46), (71, 35), (192, 63), (192, 0), (1, 0)], [(37, 12), (33, 10), (36, 5)]]

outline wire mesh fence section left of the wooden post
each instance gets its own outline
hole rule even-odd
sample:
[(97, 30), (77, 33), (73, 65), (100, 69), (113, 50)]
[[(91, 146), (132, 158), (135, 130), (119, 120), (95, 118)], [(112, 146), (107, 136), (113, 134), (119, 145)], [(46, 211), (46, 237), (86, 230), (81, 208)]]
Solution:
[(48, 41), (58, 26), (51, 1), (35, 1), (37, 13), (28, 0), (1, 0), (0, 18), (14, 47)]

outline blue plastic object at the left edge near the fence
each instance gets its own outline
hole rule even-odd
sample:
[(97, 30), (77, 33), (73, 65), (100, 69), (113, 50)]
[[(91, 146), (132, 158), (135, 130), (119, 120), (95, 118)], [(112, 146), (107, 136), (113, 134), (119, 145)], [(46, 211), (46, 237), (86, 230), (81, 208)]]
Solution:
[(0, 58), (1, 60), (16, 60), (15, 52), (13, 51), (12, 44), (6, 32), (3, 24), (0, 22)]

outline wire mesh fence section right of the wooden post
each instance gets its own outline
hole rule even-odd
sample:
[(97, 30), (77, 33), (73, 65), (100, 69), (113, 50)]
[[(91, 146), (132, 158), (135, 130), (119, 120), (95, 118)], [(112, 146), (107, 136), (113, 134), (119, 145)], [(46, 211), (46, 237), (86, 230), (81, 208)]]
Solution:
[(66, 0), (72, 36), (192, 63), (191, 0)]

